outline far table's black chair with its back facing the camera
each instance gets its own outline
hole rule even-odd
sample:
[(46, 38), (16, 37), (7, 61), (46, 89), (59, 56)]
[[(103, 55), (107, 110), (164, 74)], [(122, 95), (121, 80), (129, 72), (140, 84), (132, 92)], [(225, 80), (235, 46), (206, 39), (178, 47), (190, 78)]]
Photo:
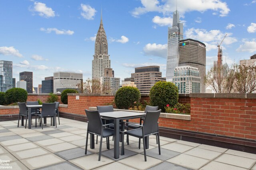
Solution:
[[(41, 114), (38, 114), (38, 116), (41, 118), (41, 122), (42, 122), (43, 117), (54, 117), (55, 125), (57, 128), (55, 107), (56, 107), (55, 103), (43, 103)], [(41, 123), (40, 123), (40, 125), (41, 125)], [(46, 125), (46, 123), (45, 123), (45, 125)], [(43, 122), (42, 122), (42, 129), (43, 129)]]

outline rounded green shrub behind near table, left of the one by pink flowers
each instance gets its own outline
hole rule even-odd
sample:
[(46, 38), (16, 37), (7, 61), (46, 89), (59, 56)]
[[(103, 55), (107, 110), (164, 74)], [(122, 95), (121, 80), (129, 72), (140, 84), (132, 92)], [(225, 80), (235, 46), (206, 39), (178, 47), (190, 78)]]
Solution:
[(140, 101), (140, 91), (136, 87), (122, 87), (116, 91), (115, 104), (118, 109), (129, 109)]

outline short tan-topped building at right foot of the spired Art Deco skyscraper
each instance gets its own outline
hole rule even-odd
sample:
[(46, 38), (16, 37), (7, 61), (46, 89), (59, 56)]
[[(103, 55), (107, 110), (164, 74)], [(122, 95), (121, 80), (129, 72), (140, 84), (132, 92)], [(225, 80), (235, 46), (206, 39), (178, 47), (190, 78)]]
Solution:
[(100, 77), (100, 84), (106, 88), (109, 93), (116, 93), (120, 88), (120, 78), (114, 77), (112, 68), (105, 68), (104, 77)]

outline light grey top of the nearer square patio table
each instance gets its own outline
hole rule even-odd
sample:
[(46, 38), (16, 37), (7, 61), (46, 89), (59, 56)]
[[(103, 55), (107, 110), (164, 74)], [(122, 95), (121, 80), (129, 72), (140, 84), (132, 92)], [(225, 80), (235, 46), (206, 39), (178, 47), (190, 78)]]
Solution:
[(145, 116), (146, 113), (137, 113), (131, 111), (110, 111), (110, 112), (102, 112), (100, 116), (110, 117), (110, 118), (124, 118), (124, 117), (134, 117), (134, 116)]

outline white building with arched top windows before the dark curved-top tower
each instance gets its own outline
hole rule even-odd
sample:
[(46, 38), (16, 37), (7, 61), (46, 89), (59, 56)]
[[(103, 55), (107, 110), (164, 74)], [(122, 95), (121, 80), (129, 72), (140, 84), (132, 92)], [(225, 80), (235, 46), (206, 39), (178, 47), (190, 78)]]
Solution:
[(178, 66), (174, 70), (174, 84), (179, 94), (201, 93), (202, 83), (199, 69), (192, 66)]

